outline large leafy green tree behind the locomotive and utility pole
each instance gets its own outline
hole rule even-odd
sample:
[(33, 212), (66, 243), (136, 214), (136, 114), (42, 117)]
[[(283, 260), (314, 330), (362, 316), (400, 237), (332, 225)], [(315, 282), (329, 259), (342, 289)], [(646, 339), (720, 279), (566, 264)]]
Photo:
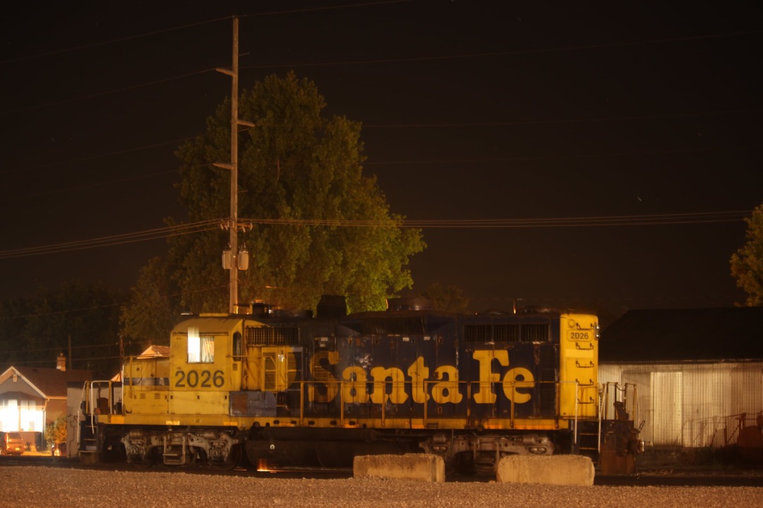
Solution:
[[(372, 310), (410, 288), (406, 266), (424, 248), (421, 232), (401, 227), (403, 217), (391, 214), (375, 177), (363, 174), (360, 124), (322, 116), (324, 98), (293, 72), (257, 82), (239, 104), (239, 116), (256, 124), (239, 141), (239, 217), (253, 226), (240, 238), (251, 261), (239, 272), (239, 301), (314, 309), (321, 294), (344, 294), (351, 310)], [(228, 217), (230, 173), (214, 162), (230, 160), (230, 101), (177, 155), (188, 221)], [(169, 240), (166, 288), (181, 295), (177, 309), (227, 309), (228, 273), (221, 267), (227, 235), (215, 230)], [(141, 275), (124, 323), (136, 323), (134, 314), (156, 297), (152, 274)]]

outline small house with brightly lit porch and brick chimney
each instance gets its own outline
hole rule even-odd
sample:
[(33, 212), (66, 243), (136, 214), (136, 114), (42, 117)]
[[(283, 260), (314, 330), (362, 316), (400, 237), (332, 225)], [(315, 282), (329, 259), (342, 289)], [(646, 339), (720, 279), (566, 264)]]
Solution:
[(69, 385), (82, 385), (90, 371), (59, 368), (9, 367), (0, 375), (0, 430), (18, 430), (27, 442), (42, 445), (45, 426), (68, 415)]

